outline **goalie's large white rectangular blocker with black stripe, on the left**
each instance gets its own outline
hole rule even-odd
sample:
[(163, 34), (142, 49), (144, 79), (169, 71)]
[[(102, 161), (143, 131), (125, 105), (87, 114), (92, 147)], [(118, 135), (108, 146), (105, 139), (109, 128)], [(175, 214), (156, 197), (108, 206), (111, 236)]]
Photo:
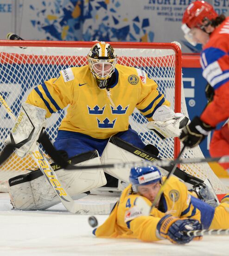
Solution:
[(45, 127), (46, 110), (23, 103), (17, 121), (6, 139), (6, 143), (15, 144), (16, 154), (24, 157), (32, 151), (39, 135)]

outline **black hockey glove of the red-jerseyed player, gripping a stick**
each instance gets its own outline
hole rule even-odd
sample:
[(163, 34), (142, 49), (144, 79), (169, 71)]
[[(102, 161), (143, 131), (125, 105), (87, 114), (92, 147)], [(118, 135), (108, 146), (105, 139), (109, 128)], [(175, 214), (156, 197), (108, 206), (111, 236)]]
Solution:
[(212, 129), (214, 127), (204, 123), (196, 116), (189, 125), (184, 127), (179, 138), (185, 146), (193, 148), (203, 141)]

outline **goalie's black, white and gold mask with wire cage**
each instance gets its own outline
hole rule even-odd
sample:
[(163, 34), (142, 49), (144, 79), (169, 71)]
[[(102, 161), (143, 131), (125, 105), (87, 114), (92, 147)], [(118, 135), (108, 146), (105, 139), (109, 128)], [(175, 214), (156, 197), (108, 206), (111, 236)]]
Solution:
[(89, 69), (100, 89), (107, 88), (108, 79), (114, 73), (117, 55), (111, 45), (105, 42), (96, 43), (89, 51)]

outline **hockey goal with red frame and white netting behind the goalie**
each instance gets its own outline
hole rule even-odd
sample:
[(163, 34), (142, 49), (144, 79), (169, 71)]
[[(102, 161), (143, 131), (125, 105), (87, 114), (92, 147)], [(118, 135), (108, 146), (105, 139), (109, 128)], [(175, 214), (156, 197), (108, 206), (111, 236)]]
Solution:
[[(17, 116), (27, 95), (43, 81), (57, 77), (60, 70), (87, 65), (86, 55), (93, 42), (47, 42), (47, 41), (0, 41), (0, 94)], [(159, 91), (171, 102), (175, 112), (188, 116), (181, 72), (181, 51), (170, 43), (111, 43), (118, 55), (118, 63), (138, 67), (157, 82)], [(46, 132), (52, 141), (66, 109), (55, 113), (47, 120)], [(7, 135), (14, 125), (6, 109), (0, 106), (0, 151), (4, 148)], [(178, 155), (178, 139), (159, 139), (146, 128), (147, 120), (136, 109), (130, 117), (130, 124), (142, 141), (159, 148), (159, 156), (172, 159)], [(184, 158), (204, 157), (199, 147), (186, 149)], [(0, 191), (7, 191), (9, 178), (37, 169), (30, 156), (20, 159), (13, 154), (0, 166)], [(228, 189), (213, 173), (207, 163), (183, 165), (191, 175), (202, 180), (208, 178), (216, 194)]]

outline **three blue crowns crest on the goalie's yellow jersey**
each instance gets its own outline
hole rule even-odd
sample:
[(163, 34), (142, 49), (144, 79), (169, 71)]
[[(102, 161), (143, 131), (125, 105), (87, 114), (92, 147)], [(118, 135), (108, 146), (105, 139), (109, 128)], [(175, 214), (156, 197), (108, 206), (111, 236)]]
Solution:
[[(90, 108), (89, 106), (87, 107), (88, 107), (89, 115), (103, 115), (106, 105), (103, 106), (102, 108), (100, 108), (98, 105), (95, 105), (94, 108)], [(121, 105), (118, 105), (117, 108), (114, 108), (113, 106), (110, 105), (112, 115), (114, 114), (124, 115), (126, 114), (128, 107), (129, 105), (126, 108), (123, 108)], [(108, 119), (108, 117), (106, 117), (104, 120), (101, 121), (96, 117), (96, 120), (98, 123), (98, 128), (114, 128), (114, 124), (117, 118), (111, 121)]]

